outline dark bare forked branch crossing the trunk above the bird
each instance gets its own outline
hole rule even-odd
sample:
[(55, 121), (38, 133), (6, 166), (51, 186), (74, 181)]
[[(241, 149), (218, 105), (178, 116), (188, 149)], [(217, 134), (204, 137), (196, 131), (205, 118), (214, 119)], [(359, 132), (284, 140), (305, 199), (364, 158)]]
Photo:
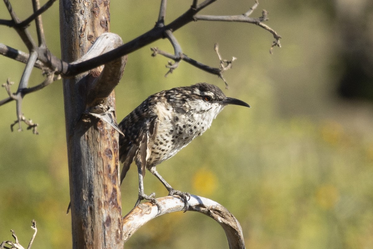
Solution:
[[(33, 0), (33, 1), (34, 1), (35, 4), (37, 4), (38, 0)], [(45, 11), (48, 7), (51, 6), (51, 4), (53, 4), (54, 1), (55, 0), (49, 0), (46, 4), (44, 4), (43, 7), (36, 10), (34, 15), (30, 16), (30, 18), (31, 17), (36, 18), (37, 13), (40, 15), (41, 10)], [(279, 42), (279, 39), (281, 37), (272, 28), (270, 28), (267, 25), (262, 23), (263, 21), (266, 21), (268, 19), (266, 11), (263, 11), (263, 15), (260, 18), (249, 18), (248, 17), (249, 15), (251, 15), (253, 10), (255, 10), (257, 8), (257, 6), (258, 6), (257, 1), (254, 4), (254, 6), (251, 7), (250, 10), (248, 10), (243, 15), (238, 15), (238, 16), (196, 15), (200, 10), (202, 10), (203, 8), (208, 6), (209, 4), (213, 3), (214, 1), (216, 1), (216, 0), (205, 0), (202, 3), (198, 4), (198, 1), (194, 0), (191, 8), (189, 10), (187, 10), (184, 14), (182, 14), (181, 16), (176, 18), (174, 21), (172, 21), (170, 24), (168, 24), (166, 26), (163, 25), (163, 23), (162, 23), (162, 25), (156, 25), (156, 27), (154, 27), (150, 31), (145, 32), (144, 34), (140, 35), (139, 37), (135, 38), (134, 40), (129, 41), (128, 43), (126, 43), (122, 46), (119, 46), (119, 47), (117, 47), (113, 50), (110, 50), (109, 52), (103, 53), (103, 54), (101, 54), (99, 56), (96, 56), (96, 57), (92, 57), (90, 59), (78, 60), (78, 61), (76, 61), (74, 63), (70, 63), (70, 64), (67, 64), (66, 62), (63, 62), (63, 61), (57, 59), (53, 54), (50, 53), (50, 51), (47, 48), (42, 48), (42, 47), (36, 48), (34, 46), (34, 41), (32, 40), (31, 36), (29, 35), (29, 32), (28, 32), (27, 29), (25, 29), (25, 28), (21, 29), (21, 28), (19, 28), (18, 25), (16, 25), (15, 28), (16, 28), (17, 32), (19, 33), (19, 35), (21, 36), (24, 43), (26, 44), (26, 46), (30, 49), (30, 51), (31, 50), (37, 50), (38, 51), (38, 60), (35, 62), (35, 64), (34, 64), (35, 66), (37, 66), (39, 68), (43, 68), (44, 66), (47, 66), (48, 68), (53, 69), (53, 70), (57, 69), (57, 71), (56, 71), (57, 74), (60, 73), (64, 76), (66, 76), (66, 77), (77, 75), (77, 74), (85, 72), (87, 70), (97, 68), (100, 65), (103, 65), (105, 63), (108, 63), (108, 62), (112, 61), (113, 59), (114, 60), (118, 59), (118, 58), (122, 57), (123, 55), (126, 55), (126, 54), (131, 53), (131, 52), (133, 52), (133, 51), (135, 51), (135, 50), (137, 50), (141, 47), (144, 47), (147, 44), (149, 44), (149, 43), (151, 43), (155, 40), (158, 40), (159, 38), (166, 37), (170, 40), (172, 46), (174, 47), (175, 55), (170, 56), (169, 54), (167, 54), (166, 52), (162, 52), (161, 50), (157, 50), (158, 52), (156, 52), (156, 53), (161, 53), (164, 56), (175, 60), (175, 63), (170, 62), (169, 65), (167, 65), (167, 68), (169, 68), (169, 72), (167, 72), (167, 74), (172, 72), (173, 69), (177, 68), (177, 66), (179, 64), (179, 61), (182, 59), (182, 60), (185, 60), (186, 62), (190, 63), (191, 65), (196, 66), (197, 68), (200, 68), (204, 71), (207, 71), (207, 72), (210, 72), (212, 74), (218, 75), (220, 78), (223, 79), (223, 81), (225, 81), (224, 78), (222, 77), (222, 72), (225, 71), (227, 68), (230, 68), (231, 63), (228, 63), (226, 66), (224, 66), (222, 64), (222, 61), (221, 61), (220, 69), (217, 69), (217, 68), (212, 68), (210, 66), (204, 65), (202, 63), (199, 63), (199, 62), (189, 58), (188, 56), (186, 56), (185, 54), (182, 53), (182, 49), (181, 49), (178, 41), (176, 40), (176, 38), (173, 36), (172, 32), (181, 28), (181, 27), (183, 27), (184, 25), (188, 24), (191, 21), (197, 21), (197, 20), (249, 22), (249, 23), (253, 23), (253, 24), (256, 24), (256, 25), (262, 27), (262, 28), (266, 29), (267, 31), (269, 31), (273, 34), (273, 36), (275, 37), (275, 41), (273, 41), (273, 43), (272, 43), (272, 46), (271, 46), (271, 49), (270, 49), (271, 53), (272, 53), (273, 47), (275, 47), (275, 46), (280, 47), (281, 46), (280, 42)], [(15, 13), (13, 12), (12, 7), (10, 6), (9, 0), (4, 0), (4, 2), (7, 5), (7, 8), (9, 10), (10, 15), (12, 16), (12, 20), (14, 22), (16, 22), (17, 24), (20, 24), (18, 18), (16, 17)], [(161, 2), (159, 18), (158, 18), (158, 22), (157, 22), (158, 24), (160, 24), (160, 22), (164, 22), (164, 16), (165, 16), (165, 12), (166, 12), (166, 4), (167, 4), (166, 0), (163, 0)], [(37, 9), (37, 8), (35, 8), (35, 9)], [(43, 31), (42, 31), (42, 27), (41, 27), (41, 22), (40, 22), (39, 26), (38, 26), (39, 27), (38, 28), (38, 30), (39, 30), (38, 31), (38, 37), (39, 37), (38, 40), (39, 40), (40, 44), (43, 44), (43, 39), (44, 38), (43, 38)], [(155, 50), (153, 52), (155, 52)], [(14, 51), (10, 47), (7, 47), (3, 44), (0, 44), (0, 53), (3, 54), (3, 55), (9, 56), (9, 57), (13, 57), (13, 58), (15, 58), (19, 61), (25, 62), (26, 54), (22, 54), (22, 52), (20, 52), (18, 50)], [(156, 53), (154, 53), (154, 54), (156, 54)], [(232, 61), (233, 60), (231, 60), (231, 62)], [(227, 63), (227, 62), (228, 61), (225, 61), (224, 63)], [(226, 81), (225, 81), (225, 83), (226, 83)], [(4, 103), (8, 103), (9, 101), (11, 101), (10, 98), (1, 100), (0, 105), (4, 104)]]

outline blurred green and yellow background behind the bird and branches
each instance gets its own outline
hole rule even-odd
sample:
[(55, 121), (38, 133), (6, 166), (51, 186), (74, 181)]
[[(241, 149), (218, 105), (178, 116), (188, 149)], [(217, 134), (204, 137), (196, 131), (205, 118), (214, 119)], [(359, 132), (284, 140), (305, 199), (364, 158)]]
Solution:
[[(46, 1), (41, 1), (44, 4)], [(151, 29), (160, 1), (112, 0), (111, 31), (129, 41)], [(169, 1), (166, 22), (192, 1)], [(31, 1), (11, 1), (23, 19)], [(220, 0), (204, 14), (236, 15), (254, 1)], [(4, 4), (0, 18), (9, 19)], [(253, 17), (269, 11), (267, 25), (283, 39), (269, 54), (272, 35), (252, 24), (193, 22), (175, 32), (189, 57), (218, 66), (219, 43), (226, 59), (238, 58), (224, 76), (227, 96), (252, 108), (228, 106), (210, 130), (159, 165), (175, 189), (224, 205), (242, 225), (247, 248), (373, 248), (372, 3), (262, 0)], [(58, 2), (43, 14), (47, 45), (60, 55)], [(33, 26), (31, 26), (33, 27)], [(0, 42), (21, 49), (16, 32), (2, 26)], [(116, 87), (121, 120), (147, 96), (176, 86), (209, 82), (214, 75), (184, 62), (167, 78), (166, 58), (150, 47), (173, 52), (160, 40), (128, 57)], [(17, 82), (24, 65), (0, 57), (0, 81)], [(40, 83), (34, 70), (30, 85)], [(13, 91), (16, 91), (16, 85)], [(7, 97), (4, 89), (1, 99)], [(15, 103), (1, 106), (0, 240), (14, 229), (26, 246), (35, 219), (33, 248), (70, 248), (71, 220), (62, 81), (30, 94), (23, 112), (40, 135), (10, 132)], [(167, 194), (147, 174), (145, 193)], [(122, 186), (123, 215), (137, 198), (134, 166)], [(197, 213), (164, 215), (142, 227), (125, 248), (228, 248), (223, 229)]]

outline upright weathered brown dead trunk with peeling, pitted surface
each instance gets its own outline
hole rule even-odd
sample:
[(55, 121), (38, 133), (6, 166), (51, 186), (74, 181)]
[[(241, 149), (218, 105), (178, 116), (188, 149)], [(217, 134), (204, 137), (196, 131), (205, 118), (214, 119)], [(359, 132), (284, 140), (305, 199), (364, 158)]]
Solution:
[[(62, 60), (79, 59), (109, 31), (109, 0), (60, 0)], [(123, 248), (118, 133), (84, 121), (87, 83), (96, 73), (63, 80), (74, 249)], [(114, 92), (107, 99), (115, 106)]]

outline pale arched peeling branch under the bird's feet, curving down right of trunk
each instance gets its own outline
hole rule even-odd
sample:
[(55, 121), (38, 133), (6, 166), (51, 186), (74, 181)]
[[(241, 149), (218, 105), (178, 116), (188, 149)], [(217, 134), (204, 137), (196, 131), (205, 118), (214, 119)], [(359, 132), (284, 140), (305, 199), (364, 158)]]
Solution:
[[(178, 196), (157, 198), (157, 203), (159, 203), (161, 207), (160, 213), (157, 205), (151, 202), (145, 202), (136, 206), (123, 217), (124, 241), (127, 241), (138, 228), (142, 227), (142, 225), (153, 218), (171, 212), (183, 211), (184, 209), (184, 202)], [(191, 195), (188, 204), (188, 211), (196, 211), (205, 214), (213, 218), (223, 227), (228, 239), (229, 248), (245, 248), (241, 225), (226, 208), (213, 200), (195, 195)]]

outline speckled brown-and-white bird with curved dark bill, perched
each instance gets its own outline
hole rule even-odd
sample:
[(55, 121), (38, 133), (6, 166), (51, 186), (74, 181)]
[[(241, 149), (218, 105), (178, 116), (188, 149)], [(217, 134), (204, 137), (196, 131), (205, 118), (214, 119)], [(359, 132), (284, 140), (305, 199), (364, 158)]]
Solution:
[(135, 160), (139, 175), (136, 205), (143, 199), (156, 203), (155, 193), (144, 193), (145, 169), (148, 169), (162, 182), (169, 195), (180, 196), (185, 211), (188, 209), (190, 194), (173, 189), (157, 172), (156, 166), (201, 136), (229, 104), (250, 107), (241, 100), (226, 97), (215, 85), (198, 83), (149, 96), (119, 123), (124, 134), (119, 137), (119, 160), (123, 162), (120, 183)]

